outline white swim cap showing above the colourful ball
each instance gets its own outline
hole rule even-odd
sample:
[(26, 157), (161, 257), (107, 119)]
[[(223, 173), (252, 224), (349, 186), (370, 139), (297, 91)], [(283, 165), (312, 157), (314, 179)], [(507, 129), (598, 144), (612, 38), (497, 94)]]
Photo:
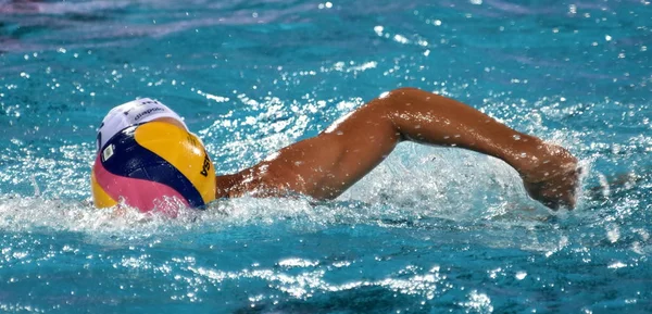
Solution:
[(156, 100), (141, 98), (113, 108), (109, 111), (98, 130), (97, 151), (99, 152), (104, 148), (106, 142), (121, 130), (162, 117), (173, 118), (188, 130), (188, 127), (176, 112)]

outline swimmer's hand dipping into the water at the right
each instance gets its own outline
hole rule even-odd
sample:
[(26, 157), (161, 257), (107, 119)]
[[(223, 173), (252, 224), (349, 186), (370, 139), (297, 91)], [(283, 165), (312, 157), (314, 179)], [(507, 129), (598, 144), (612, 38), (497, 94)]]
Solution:
[(544, 143), (538, 155), (517, 168), (528, 194), (552, 210), (573, 210), (581, 168), (567, 150)]

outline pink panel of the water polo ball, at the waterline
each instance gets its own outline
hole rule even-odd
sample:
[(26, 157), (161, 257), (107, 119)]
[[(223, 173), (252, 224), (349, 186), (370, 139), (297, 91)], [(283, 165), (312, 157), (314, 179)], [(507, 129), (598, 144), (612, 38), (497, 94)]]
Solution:
[[(181, 197), (179, 192), (173, 188), (154, 181), (128, 178), (116, 176), (104, 168), (100, 161), (100, 155), (97, 156), (95, 163), (95, 175), (100, 187), (114, 200), (124, 198), (125, 203), (129, 206), (137, 208), (140, 212), (149, 212), (154, 209), (154, 200), (163, 201), (163, 197), (176, 197), (184, 202), (186, 206), (190, 206), (188, 201)], [(162, 205), (163, 202), (160, 203)], [(172, 205), (158, 208), (156, 211), (163, 212), (171, 216), (176, 216), (176, 209)]]

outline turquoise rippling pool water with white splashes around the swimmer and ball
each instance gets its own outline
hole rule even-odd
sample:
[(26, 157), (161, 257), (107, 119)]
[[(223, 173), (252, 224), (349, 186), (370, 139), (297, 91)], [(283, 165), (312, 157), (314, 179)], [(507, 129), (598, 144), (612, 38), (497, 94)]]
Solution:
[[(648, 1), (1, 1), (2, 313), (650, 313)], [(396, 87), (561, 143), (576, 211), (403, 143), (339, 199), (93, 210), (95, 133), (151, 97), (218, 173)]]

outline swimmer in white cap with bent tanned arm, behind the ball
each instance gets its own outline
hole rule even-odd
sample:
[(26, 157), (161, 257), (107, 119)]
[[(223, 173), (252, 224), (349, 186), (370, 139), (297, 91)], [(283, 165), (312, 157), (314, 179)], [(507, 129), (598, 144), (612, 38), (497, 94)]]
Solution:
[[(141, 101), (131, 120), (104, 118), (98, 151), (112, 135), (153, 121), (187, 129), (156, 101)], [(124, 112), (124, 115), (129, 115)], [(109, 123), (110, 125), (105, 125)], [(113, 123), (111, 125), (111, 123)], [(342, 116), (313, 138), (273, 153), (252, 167), (215, 177), (215, 198), (337, 198), (364, 177), (401, 141), (457, 147), (498, 158), (523, 179), (528, 194), (552, 210), (574, 209), (579, 171), (566, 149), (518, 133), (464, 103), (416, 88), (399, 88)]]

